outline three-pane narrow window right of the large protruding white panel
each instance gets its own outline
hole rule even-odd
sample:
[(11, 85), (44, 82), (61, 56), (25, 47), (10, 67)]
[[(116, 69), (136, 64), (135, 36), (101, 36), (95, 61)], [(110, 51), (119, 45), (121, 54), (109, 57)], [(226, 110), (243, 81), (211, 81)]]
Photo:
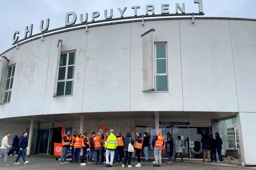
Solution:
[(155, 44), (155, 91), (168, 91), (167, 45)]

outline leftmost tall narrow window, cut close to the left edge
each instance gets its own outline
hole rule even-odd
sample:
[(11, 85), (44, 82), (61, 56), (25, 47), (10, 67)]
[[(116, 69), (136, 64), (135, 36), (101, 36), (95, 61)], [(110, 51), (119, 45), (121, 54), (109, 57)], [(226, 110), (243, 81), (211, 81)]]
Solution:
[(3, 103), (9, 103), (11, 100), (14, 73), (15, 73), (15, 65), (8, 68), (6, 86), (4, 88), (5, 91), (3, 96)]

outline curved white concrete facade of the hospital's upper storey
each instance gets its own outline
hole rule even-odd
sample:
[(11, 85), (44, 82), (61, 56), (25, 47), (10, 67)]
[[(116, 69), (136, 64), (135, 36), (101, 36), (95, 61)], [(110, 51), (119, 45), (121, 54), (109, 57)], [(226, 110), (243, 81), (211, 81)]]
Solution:
[[(155, 29), (154, 42), (167, 44), (168, 92), (142, 92), (141, 34), (151, 28)], [(167, 119), (176, 112), (176, 120), (197, 122), (201, 118), (211, 126), (211, 119), (238, 113), (241, 137), (248, 142), (243, 121), (256, 119), (255, 30), (256, 20), (196, 18), (192, 24), (190, 18), (158, 19), (145, 21), (144, 26), (140, 21), (127, 21), (92, 26), (88, 32), (77, 28), (51, 34), (44, 41), (26, 42), (1, 54), (9, 59), (8, 65), (15, 64), (15, 77), (10, 103), (0, 105), (0, 120), (60, 113), (163, 111)], [(76, 50), (72, 96), (53, 97), (58, 40), (63, 40), (61, 51)], [(181, 119), (177, 112), (189, 117)], [(87, 128), (86, 120), (85, 116), (81, 129)], [(244, 164), (256, 165), (255, 160), (246, 159), (250, 150), (256, 150), (255, 142), (243, 147)]]

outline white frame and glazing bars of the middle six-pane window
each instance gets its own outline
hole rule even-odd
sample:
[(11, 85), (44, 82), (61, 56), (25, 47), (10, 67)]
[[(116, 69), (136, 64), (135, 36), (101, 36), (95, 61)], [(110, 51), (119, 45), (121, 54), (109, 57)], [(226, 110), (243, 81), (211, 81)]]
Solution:
[[(70, 55), (70, 53), (73, 53), (73, 52), (75, 52), (75, 59), (74, 59), (75, 64), (68, 65), (69, 55)], [(61, 54), (67, 54), (66, 65), (64, 65), (64, 66), (60, 66)], [(69, 95), (65, 95), (65, 91), (66, 91), (66, 84), (67, 84), (66, 82), (69, 82), (69, 81), (73, 81), (73, 90), (74, 90), (74, 79), (75, 79), (75, 68), (76, 68), (76, 50), (61, 51), (61, 54), (58, 57), (58, 73), (56, 75), (57, 82), (56, 82), (56, 87), (55, 87), (56, 88), (56, 95), (54, 97), (73, 96), (73, 91), (72, 91), (72, 94), (69, 94)], [(73, 79), (66, 79), (67, 78), (68, 67), (70, 67), (70, 66), (74, 66), (74, 69), (73, 69), (74, 77), (73, 77)], [(58, 80), (59, 68), (65, 68), (65, 79)], [(64, 95), (59, 95), (59, 96), (57, 95), (58, 82), (65, 82), (64, 83)]]

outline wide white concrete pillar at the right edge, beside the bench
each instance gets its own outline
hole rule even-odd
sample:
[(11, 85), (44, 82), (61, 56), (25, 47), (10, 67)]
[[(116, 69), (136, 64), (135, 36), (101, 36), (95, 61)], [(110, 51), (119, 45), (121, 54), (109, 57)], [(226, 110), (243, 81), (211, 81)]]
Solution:
[(256, 113), (236, 113), (242, 166), (256, 166)]

